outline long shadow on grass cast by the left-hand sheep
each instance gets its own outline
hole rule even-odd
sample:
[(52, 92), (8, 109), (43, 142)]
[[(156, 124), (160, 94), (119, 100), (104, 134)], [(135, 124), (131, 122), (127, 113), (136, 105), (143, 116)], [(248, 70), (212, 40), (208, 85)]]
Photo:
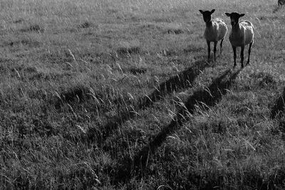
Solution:
[(96, 130), (95, 128), (90, 129), (87, 132), (88, 142), (97, 141), (100, 146), (100, 144), (110, 137), (123, 122), (126, 122), (137, 115), (134, 110), (141, 110), (150, 107), (158, 100), (161, 100), (165, 95), (172, 93), (173, 91), (191, 87), (192, 82), (199, 73), (201, 73), (201, 70), (204, 70), (207, 66), (209, 65), (205, 61), (197, 61), (191, 68), (184, 70), (164, 83), (161, 83), (150, 95), (141, 97), (138, 102), (133, 105), (133, 110), (119, 112), (118, 115), (111, 118), (105, 125), (103, 125), (102, 131)]

